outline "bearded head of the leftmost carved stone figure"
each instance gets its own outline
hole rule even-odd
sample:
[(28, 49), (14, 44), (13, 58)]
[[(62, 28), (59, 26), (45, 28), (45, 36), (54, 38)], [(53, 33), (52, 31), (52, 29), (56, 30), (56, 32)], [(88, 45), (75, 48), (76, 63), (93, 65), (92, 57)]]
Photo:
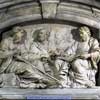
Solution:
[(13, 40), (15, 43), (21, 43), (25, 40), (27, 33), (22, 27), (16, 26), (12, 29), (12, 31), (14, 33)]

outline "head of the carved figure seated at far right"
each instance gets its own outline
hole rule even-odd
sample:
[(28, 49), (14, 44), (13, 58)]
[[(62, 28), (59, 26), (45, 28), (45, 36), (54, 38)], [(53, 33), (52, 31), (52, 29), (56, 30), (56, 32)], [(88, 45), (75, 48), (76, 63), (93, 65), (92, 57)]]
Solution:
[(79, 35), (82, 41), (87, 41), (91, 36), (90, 29), (87, 26), (80, 27)]

